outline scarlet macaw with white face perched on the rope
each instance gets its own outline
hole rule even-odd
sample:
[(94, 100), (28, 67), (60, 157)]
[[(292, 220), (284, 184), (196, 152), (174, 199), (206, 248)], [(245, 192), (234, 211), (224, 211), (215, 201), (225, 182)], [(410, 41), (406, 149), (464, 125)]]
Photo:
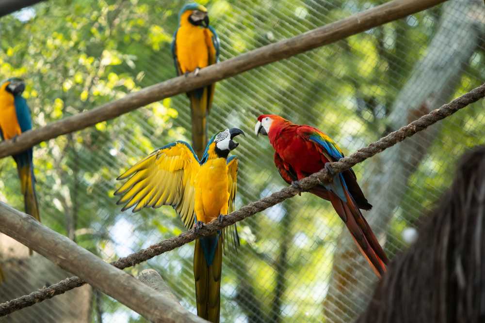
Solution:
[[(337, 144), (322, 131), (291, 123), (277, 115), (260, 115), (255, 133), (269, 137), (275, 148), (276, 168), (288, 184), (296, 187), (302, 178), (343, 157)], [(357, 184), (354, 171), (348, 169), (339, 173), (331, 184), (314, 186), (309, 192), (332, 203), (360, 251), (376, 275), (381, 277), (386, 272), (388, 258), (359, 210), (370, 210), (372, 205)]]

